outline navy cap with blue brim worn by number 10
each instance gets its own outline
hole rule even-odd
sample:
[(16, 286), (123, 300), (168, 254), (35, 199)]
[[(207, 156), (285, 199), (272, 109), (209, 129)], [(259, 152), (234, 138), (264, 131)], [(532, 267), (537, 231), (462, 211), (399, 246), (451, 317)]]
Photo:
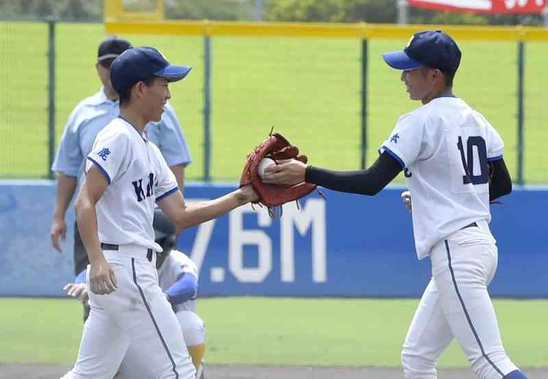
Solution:
[(413, 70), (421, 66), (438, 68), (443, 73), (456, 73), (460, 65), (457, 42), (441, 30), (419, 31), (402, 51), (383, 54), (384, 62), (398, 70)]

